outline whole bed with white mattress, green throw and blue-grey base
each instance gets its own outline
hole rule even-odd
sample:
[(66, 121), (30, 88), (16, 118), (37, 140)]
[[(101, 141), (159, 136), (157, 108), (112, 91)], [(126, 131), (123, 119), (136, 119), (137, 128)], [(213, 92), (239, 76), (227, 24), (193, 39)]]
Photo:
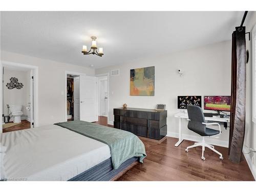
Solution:
[(4, 133), (1, 144), (6, 180), (108, 181), (146, 156), (132, 133), (84, 121)]

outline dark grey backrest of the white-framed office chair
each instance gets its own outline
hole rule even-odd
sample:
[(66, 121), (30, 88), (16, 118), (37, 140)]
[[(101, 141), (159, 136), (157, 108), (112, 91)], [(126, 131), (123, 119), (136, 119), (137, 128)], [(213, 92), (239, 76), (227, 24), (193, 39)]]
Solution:
[(206, 134), (206, 125), (205, 123), (203, 110), (200, 106), (196, 105), (187, 105), (188, 121), (187, 127), (189, 130), (194, 131), (200, 135)]

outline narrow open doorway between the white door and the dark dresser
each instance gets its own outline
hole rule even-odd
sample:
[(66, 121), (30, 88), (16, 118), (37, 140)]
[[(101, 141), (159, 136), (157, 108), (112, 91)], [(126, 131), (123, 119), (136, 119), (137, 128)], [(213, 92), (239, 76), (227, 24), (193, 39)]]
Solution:
[(108, 125), (109, 116), (109, 75), (100, 74), (98, 77), (98, 115), (99, 124)]

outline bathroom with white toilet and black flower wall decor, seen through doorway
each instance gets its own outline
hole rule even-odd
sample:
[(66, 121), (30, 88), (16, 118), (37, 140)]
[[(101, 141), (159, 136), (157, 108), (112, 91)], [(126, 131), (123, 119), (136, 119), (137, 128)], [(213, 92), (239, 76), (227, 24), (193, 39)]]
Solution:
[(31, 70), (3, 67), (3, 133), (29, 129), (31, 123)]

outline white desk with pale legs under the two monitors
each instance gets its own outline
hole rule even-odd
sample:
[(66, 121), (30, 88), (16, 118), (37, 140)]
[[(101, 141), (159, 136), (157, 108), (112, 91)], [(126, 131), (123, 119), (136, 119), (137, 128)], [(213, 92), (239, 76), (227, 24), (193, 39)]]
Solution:
[[(180, 143), (183, 141), (182, 139), (182, 131), (181, 131), (181, 119), (188, 119), (187, 113), (179, 112), (174, 115), (174, 117), (179, 118), (179, 141), (175, 144), (175, 146), (179, 146)], [(229, 117), (220, 118), (219, 116), (213, 117), (205, 117), (205, 120), (208, 121), (217, 121), (217, 122), (229, 122)]]

